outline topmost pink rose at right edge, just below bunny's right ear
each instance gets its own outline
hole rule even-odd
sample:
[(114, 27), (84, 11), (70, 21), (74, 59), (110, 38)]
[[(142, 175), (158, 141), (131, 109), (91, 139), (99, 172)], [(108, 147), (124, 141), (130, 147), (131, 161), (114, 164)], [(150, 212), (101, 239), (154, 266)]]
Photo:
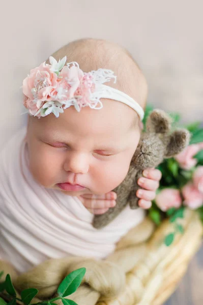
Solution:
[(193, 157), (202, 148), (203, 148), (203, 142), (197, 144), (191, 144), (187, 146), (180, 154), (178, 154), (175, 157), (175, 159), (178, 161), (180, 167), (189, 170), (196, 165), (197, 160), (194, 159)]

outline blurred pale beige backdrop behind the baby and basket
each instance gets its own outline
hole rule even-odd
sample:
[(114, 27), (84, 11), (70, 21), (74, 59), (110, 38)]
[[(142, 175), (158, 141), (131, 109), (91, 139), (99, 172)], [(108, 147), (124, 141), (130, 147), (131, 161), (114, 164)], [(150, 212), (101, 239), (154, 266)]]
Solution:
[[(180, 111), (184, 121), (202, 120), (201, 0), (18, 0), (1, 5), (0, 145), (26, 123), (20, 86), (30, 69), (69, 41), (85, 37), (120, 43), (132, 53), (147, 77), (149, 103)], [(198, 261), (194, 265), (197, 272)], [(194, 283), (200, 275), (202, 281), (197, 272)], [(190, 284), (192, 299), (200, 301), (201, 291)]]

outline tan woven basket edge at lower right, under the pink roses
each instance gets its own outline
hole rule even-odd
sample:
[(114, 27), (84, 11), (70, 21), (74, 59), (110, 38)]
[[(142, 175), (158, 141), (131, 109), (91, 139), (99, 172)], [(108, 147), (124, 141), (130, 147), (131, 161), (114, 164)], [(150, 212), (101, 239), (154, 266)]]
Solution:
[(203, 227), (196, 211), (186, 209), (179, 223), (184, 233), (177, 234), (172, 245), (166, 247), (163, 239), (174, 228), (168, 220), (164, 221), (148, 242), (147, 256), (127, 273), (125, 291), (117, 299), (97, 305), (163, 304), (176, 290), (201, 244)]

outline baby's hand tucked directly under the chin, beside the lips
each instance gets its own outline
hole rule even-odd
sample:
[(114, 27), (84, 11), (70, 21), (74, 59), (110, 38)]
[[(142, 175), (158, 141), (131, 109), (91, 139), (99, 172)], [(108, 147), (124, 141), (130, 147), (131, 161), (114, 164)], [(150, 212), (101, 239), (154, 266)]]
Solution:
[(117, 194), (111, 191), (104, 195), (84, 194), (77, 197), (92, 214), (98, 215), (115, 206)]

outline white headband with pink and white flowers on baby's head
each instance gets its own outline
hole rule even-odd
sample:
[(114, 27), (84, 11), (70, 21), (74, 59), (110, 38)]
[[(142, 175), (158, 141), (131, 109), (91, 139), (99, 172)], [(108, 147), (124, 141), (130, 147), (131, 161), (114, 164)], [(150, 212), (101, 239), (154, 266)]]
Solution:
[[(103, 107), (101, 98), (116, 100), (133, 108), (143, 119), (144, 111), (131, 97), (103, 83), (114, 79), (114, 72), (98, 69), (83, 72), (78, 63), (66, 63), (66, 56), (57, 62), (52, 56), (49, 64), (42, 63), (32, 69), (23, 80), (23, 105), (30, 115), (46, 116), (51, 112), (59, 117), (66, 108), (74, 106), (79, 112), (82, 107), (93, 109)], [(65, 67), (64, 67), (65, 66)]]

